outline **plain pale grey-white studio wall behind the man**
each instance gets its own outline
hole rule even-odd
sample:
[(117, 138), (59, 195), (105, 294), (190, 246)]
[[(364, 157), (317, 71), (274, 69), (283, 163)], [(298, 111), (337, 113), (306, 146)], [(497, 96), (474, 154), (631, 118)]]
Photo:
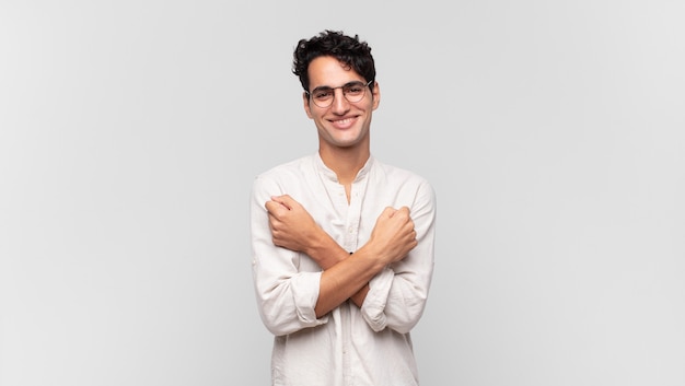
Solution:
[(422, 385), (685, 384), (685, 3), (3, 1), (0, 385), (268, 385), (254, 176), (291, 74), (373, 47), (372, 151), (438, 194)]

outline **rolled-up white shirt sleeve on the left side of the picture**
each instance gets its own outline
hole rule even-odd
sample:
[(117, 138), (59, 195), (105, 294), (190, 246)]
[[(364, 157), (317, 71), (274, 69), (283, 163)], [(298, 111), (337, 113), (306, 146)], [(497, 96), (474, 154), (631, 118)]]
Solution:
[(304, 255), (274, 245), (265, 203), (282, 194), (270, 178), (257, 177), (251, 197), (252, 271), (262, 321), (276, 335), (292, 334), (327, 321), (316, 318), (321, 270), (301, 271)]

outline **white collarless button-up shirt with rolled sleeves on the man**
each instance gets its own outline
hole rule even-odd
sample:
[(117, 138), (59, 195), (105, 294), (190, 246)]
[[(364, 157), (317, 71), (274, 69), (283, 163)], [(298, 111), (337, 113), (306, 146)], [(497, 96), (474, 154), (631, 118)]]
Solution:
[[(265, 203), (286, 194), (350, 253), (367, 243), (385, 207), (406, 206), (418, 246), (369, 282), (361, 308), (347, 301), (316, 318), (322, 269), (271, 239)], [(434, 219), (430, 184), (373, 156), (352, 183), (349, 203), (318, 153), (257, 176), (251, 202), (253, 276), (262, 320), (275, 335), (272, 385), (418, 385), (409, 331), (423, 313), (431, 282)]]

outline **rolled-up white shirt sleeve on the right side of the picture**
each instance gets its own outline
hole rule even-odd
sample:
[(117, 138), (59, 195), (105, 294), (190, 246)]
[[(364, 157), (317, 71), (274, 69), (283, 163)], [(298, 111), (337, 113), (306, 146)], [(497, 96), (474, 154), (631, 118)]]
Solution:
[(432, 279), (436, 237), (436, 195), (423, 183), (410, 206), (418, 245), (369, 282), (361, 306), (364, 320), (374, 331), (392, 328), (406, 334), (419, 321)]

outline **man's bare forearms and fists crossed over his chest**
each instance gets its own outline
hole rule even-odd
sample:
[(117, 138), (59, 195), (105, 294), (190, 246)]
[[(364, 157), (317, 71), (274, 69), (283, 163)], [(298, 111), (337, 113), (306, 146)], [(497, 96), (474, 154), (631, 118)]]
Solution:
[(407, 207), (385, 208), (376, 219), (369, 242), (351, 255), (290, 196), (271, 197), (265, 207), (274, 244), (306, 254), (324, 270), (315, 305), (316, 317), (322, 317), (348, 299), (361, 307), (369, 291), (369, 281), (417, 246), (414, 221)]

